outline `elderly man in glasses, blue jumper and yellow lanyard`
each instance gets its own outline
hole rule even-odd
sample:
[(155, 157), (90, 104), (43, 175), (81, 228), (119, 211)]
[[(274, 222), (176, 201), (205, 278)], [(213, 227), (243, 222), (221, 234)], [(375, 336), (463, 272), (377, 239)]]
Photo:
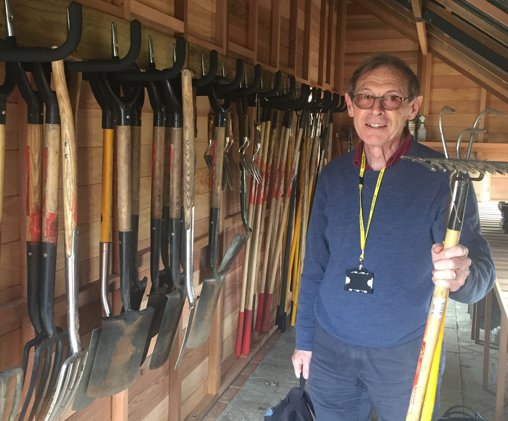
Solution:
[(492, 288), (495, 268), (474, 193), (461, 244), (443, 249), (449, 175), (400, 159), (441, 156), (406, 128), (422, 103), (409, 66), (371, 57), (345, 98), (361, 141), (324, 168), (316, 188), (293, 366), (297, 377), (309, 378), (318, 421), (368, 421), (372, 406), (379, 421), (400, 421), (434, 284), (472, 303)]

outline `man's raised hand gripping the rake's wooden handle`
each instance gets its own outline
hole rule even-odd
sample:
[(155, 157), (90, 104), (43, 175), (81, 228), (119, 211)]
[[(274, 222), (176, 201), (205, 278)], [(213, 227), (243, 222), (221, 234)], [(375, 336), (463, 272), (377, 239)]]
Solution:
[(467, 247), (458, 244), (454, 247), (444, 248), (442, 244), (432, 246), (432, 281), (437, 286), (456, 291), (469, 275), (471, 259), (467, 257)]

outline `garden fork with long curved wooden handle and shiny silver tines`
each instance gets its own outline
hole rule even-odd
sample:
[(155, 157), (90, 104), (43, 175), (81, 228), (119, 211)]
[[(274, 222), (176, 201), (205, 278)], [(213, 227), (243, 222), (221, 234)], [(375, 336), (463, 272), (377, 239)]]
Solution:
[(63, 219), (65, 238), (65, 273), (67, 293), (67, 329), (69, 354), (63, 363), (58, 384), (45, 421), (60, 418), (70, 405), (81, 380), (88, 350), (81, 349), (78, 319), (78, 223), (77, 223), (77, 147), (71, 101), (63, 61), (51, 63), (61, 118), (63, 176)]

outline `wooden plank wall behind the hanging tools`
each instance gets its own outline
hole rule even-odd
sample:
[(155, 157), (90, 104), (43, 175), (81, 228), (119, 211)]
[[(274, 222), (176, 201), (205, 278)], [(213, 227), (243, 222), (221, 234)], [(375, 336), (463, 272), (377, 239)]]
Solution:
[[(13, 2), (14, 28), (19, 44), (27, 46), (59, 45), (66, 37), (65, 9), (67, 0), (34, 0), (29, 4)], [(340, 3), (340, 2), (339, 2)], [(183, 35), (188, 41), (186, 66), (201, 73), (201, 53), (216, 49), (219, 63), (231, 77), (238, 57), (246, 63), (249, 80), (253, 64), (261, 63), (264, 87), (269, 88), (273, 73), (282, 70), (283, 79), (294, 75), (298, 82), (331, 89), (335, 75), (335, 52), (322, 48), (333, 40), (339, 18), (334, 0), (83, 0), (83, 36), (75, 59), (109, 58), (111, 54), (110, 23), (118, 25), (119, 54), (128, 49), (129, 21), (142, 23), (142, 50), (137, 60), (141, 68), (148, 62), (147, 37), (154, 39), (158, 68), (172, 66), (172, 45)], [(0, 16), (3, 25), (5, 17)], [(321, 28), (321, 29), (320, 29)], [(311, 51), (311, 53), (310, 53)], [(209, 171), (202, 158), (208, 145), (208, 100), (197, 100), (198, 138), (196, 139), (196, 224), (195, 224), (195, 289), (199, 295), (206, 267), (208, 243)], [(26, 310), (25, 269), (25, 147), (26, 106), (17, 90), (10, 96), (7, 109), (7, 150), (5, 204), (0, 270), (0, 371), (20, 365), (21, 349), (34, 332)], [(253, 120), (253, 119), (251, 119)], [(251, 131), (252, 132), (252, 131)], [(145, 101), (142, 115), (141, 192), (139, 231), (140, 276), (149, 277), (150, 185), (151, 185), (152, 111)], [(80, 334), (83, 345), (93, 328), (101, 325), (99, 304), (99, 233), (102, 182), (101, 110), (87, 82), (83, 82), (78, 109), (78, 223), (80, 229)], [(236, 143), (235, 148), (238, 148)], [(235, 156), (236, 156), (235, 149)], [(61, 186), (61, 181), (60, 181)], [(61, 187), (60, 187), (61, 189)], [(224, 193), (221, 243), (229, 244), (236, 232), (242, 231), (239, 215), (239, 180), (234, 190)], [(61, 201), (60, 201), (61, 202)], [(62, 216), (60, 203), (59, 217)], [(60, 224), (60, 229), (63, 225)], [(65, 280), (62, 232), (59, 233), (55, 315), (57, 325), (66, 326)], [(224, 248), (224, 247), (223, 247)], [(219, 245), (219, 254), (223, 252)], [(139, 378), (128, 391), (112, 398), (98, 399), (88, 408), (68, 410), (62, 419), (81, 421), (154, 421), (200, 419), (213, 401), (247, 365), (253, 354), (273, 332), (252, 335), (251, 352), (246, 358), (234, 355), (236, 323), (240, 299), (243, 254), (240, 253), (223, 286), (223, 299), (216, 312), (210, 339), (193, 350), (187, 350), (177, 371), (173, 370), (176, 353), (163, 368), (148, 369), (150, 355), (140, 370)], [(113, 265), (111, 299), (116, 311), (121, 307), (119, 282)], [(147, 290), (150, 287), (148, 283)], [(274, 300), (275, 301), (275, 300)], [(146, 300), (142, 307), (146, 305)], [(276, 303), (273, 302), (273, 310)], [(184, 308), (177, 345), (182, 340), (188, 316)], [(153, 342), (152, 342), (153, 345)], [(151, 354), (151, 349), (149, 351)]]

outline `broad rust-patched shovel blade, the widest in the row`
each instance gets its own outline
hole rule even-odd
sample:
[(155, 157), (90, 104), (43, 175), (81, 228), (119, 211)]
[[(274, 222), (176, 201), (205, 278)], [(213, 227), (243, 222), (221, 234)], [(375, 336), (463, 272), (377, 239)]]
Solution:
[(103, 327), (86, 394), (106, 398), (124, 391), (138, 375), (153, 309), (103, 317)]

